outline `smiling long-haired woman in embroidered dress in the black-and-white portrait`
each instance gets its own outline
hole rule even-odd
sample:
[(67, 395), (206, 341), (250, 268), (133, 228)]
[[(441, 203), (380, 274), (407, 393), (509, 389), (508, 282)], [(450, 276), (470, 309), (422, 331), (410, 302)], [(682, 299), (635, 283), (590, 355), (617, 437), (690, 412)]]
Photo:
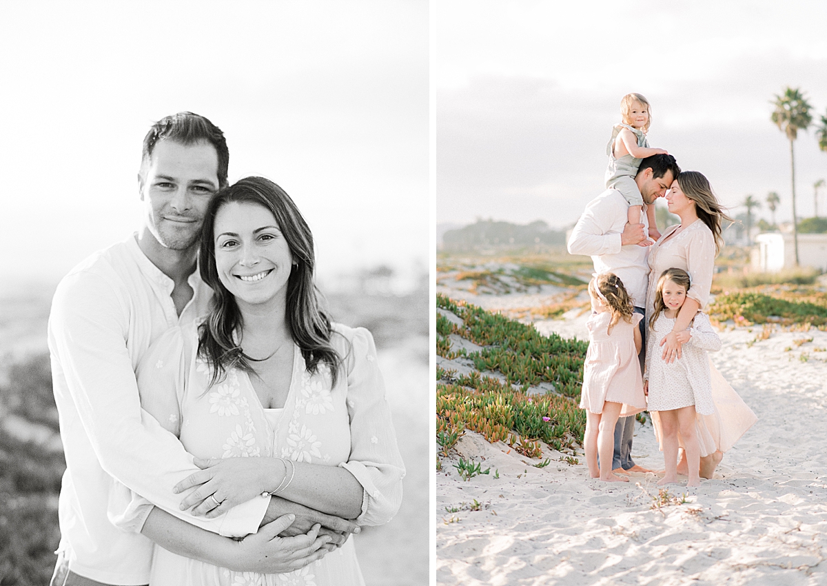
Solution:
[[(179, 484), (201, 485), (183, 506), (216, 516), (262, 493), (359, 526), (389, 521), (404, 466), (373, 338), (319, 308), (313, 237), (293, 201), (260, 177), (220, 191), (198, 263), (215, 293), (211, 313), (170, 329), (138, 369), (141, 406), (215, 464)], [(179, 524), (150, 517), (144, 533)], [(293, 572), (257, 574), (156, 545), (151, 584), (364, 584), (352, 539), (327, 550)]]

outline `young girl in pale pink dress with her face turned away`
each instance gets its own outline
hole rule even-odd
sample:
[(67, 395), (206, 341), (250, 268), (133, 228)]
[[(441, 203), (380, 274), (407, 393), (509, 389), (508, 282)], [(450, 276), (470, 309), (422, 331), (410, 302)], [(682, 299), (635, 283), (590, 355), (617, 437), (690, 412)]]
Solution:
[[(591, 478), (605, 482), (629, 482), (612, 473), (614, 425), (621, 416), (646, 409), (638, 353), (642, 337), (623, 281), (614, 273), (595, 276), (589, 283), (591, 309), (586, 322), (589, 349), (583, 364), (581, 409), (586, 410), (586, 465)], [(598, 466), (600, 454), (600, 466)]]

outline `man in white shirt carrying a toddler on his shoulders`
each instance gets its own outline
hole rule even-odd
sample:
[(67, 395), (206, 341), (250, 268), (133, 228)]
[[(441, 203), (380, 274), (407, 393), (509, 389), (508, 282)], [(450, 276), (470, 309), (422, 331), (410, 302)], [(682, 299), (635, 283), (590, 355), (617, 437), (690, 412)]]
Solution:
[[(641, 161), (634, 181), (638, 185), (643, 203), (654, 205), (655, 199), (666, 195), (672, 181), (681, 172), (672, 155), (654, 155)], [(645, 209), (645, 208), (644, 208)], [(623, 281), (632, 297), (634, 309), (645, 315), (646, 290), (649, 266), (646, 261), (648, 247), (639, 246), (648, 238), (648, 220), (641, 214), (643, 223), (630, 224), (629, 202), (618, 190), (605, 190), (586, 205), (568, 241), (570, 254), (586, 254), (595, 265), (595, 272), (613, 272)], [(643, 372), (646, 356), (646, 319), (640, 322), (643, 347), (638, 358)], [(621, 417), (614, 426), (614, 472), (644, 472), (632, 460), (634, 417)]]

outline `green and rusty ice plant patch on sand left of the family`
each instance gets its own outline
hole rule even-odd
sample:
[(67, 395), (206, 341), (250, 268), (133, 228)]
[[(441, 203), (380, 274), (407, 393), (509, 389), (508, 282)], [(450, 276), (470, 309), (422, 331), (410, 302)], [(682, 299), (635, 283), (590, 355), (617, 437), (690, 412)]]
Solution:
[[(544, 336), (476, 305), (437, 295), (437, 307), (462, 320), (454, 324), (437, 314), (437, 354), (467, 358), (476, 371), (469, 375), (437, 367), (437, 444), (449, 454), (465, 430), (491, 443), (506, 442), (520, 454), (538, 458), (542, 443), (562, 451), (581, 444), (586, 416), (577, 406), (588, 343)], [(447, 336), (456, 334), (481, 347), (451, 350)], [(496, 376), (480, 374), (491, 372)], [(529, 394), (541, 382), (554, 391)]]

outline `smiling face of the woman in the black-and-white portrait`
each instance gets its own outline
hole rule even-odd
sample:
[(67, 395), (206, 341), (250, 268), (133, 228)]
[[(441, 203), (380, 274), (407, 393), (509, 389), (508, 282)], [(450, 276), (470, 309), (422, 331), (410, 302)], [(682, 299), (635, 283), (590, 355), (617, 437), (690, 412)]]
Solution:
[(215, 217), (218, 278), (239, 306), (274, 304), (283, 309), (293, 255), (269, 209), (230, 202)]

